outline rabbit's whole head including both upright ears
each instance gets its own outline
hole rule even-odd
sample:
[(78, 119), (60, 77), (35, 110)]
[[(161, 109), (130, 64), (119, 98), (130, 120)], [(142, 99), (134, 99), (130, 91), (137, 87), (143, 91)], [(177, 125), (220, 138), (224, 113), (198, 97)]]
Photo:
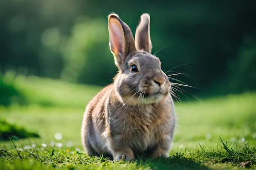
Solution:
[(151, 53), (150, 17), (141, 15), (135, 40), (129, 26), (117, 14), (108, 16), (110, 50), (119, 73), (114, 86), (124, 104), (153, 104), (169, 95), (171, 85), (161, 62)]

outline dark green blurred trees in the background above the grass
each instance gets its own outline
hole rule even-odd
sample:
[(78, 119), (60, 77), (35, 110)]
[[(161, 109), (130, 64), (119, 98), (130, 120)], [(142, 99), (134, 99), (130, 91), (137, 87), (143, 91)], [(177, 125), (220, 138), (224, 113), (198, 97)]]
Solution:
[(118, 13), (135, 33), (139, 16), (150, 13), (152, 53), (164, 71), (195, 76), (177, 79), (211, 93), (255, 90), (255, 7), (254, 0), (1, 0), (0, 71), (110, 84), (117, 68), (106, 16)]

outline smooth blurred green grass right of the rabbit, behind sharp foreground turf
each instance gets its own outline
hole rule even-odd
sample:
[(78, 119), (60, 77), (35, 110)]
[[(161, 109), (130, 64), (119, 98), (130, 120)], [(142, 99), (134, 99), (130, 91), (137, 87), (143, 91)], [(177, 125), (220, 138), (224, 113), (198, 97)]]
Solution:
[[(216, 146), (219, 137), (238, 146), (256, 146), (256, 93), (227, 95), (197, 102), (176, 104), (178, 127), (173, 146)], [(182, 134), (182, 135), (180, 135)], [(197, 143), (195, 142), (197, 141)]]

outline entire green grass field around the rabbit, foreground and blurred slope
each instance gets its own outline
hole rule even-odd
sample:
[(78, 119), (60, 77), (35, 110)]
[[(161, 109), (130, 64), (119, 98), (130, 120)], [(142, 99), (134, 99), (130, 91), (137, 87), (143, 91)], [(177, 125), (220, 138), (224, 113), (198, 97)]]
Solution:
[(11, 140), (0, 141), (1, 170), (256, 169), (256, 93), (175, 102), (178, 121), (170, 157), (124, 162), (91, 158), (82, 148), (83, 112), (101, 87), (7, 78), (27, 104), (14, 97), (10, 106), (0, 106), (0, 119), (40, 137), (13, 138), (17, 150)]

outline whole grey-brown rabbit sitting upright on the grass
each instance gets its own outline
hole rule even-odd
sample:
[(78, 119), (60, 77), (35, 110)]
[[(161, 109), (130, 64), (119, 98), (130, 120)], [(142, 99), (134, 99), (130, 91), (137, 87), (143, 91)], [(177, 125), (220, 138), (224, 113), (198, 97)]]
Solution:
[(149, 25), (149, 14), (142, 14), (134, 40), (117, 14), (108, 15), (109, 46), (119, 71), (86, 106), (81, 137), (89, 156), (168, 157), (176, 117), (168, 77), (150, 54)]

